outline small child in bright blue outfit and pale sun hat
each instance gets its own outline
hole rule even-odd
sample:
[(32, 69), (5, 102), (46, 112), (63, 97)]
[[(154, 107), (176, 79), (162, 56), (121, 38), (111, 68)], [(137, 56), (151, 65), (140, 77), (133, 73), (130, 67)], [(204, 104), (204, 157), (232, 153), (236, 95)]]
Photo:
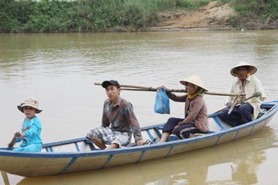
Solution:
[[(40, 138), (42, 124), (40, 124), (40, 120), (35, 113), (40, 113), (42, 110), (39, 109), (37, 99), (27, 97), (24, 103), (17, 106), (17, 108), (24, 113), (26, 118), (20, 124), (22, 132), (15, 133), (15, 137), (17, 138), (15, 143), (20, 141), (22, 143), (18, 147), (15, 147), (13, 151), (40, 152), (42, 150), (42, 140)], [(16, 134), (19, 134), (19, 136), (16, 136)]]

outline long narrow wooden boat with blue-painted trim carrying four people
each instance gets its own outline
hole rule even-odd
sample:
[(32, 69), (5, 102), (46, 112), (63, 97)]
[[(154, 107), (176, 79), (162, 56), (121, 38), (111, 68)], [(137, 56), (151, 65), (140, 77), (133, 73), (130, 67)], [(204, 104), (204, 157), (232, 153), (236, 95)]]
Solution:
[(143, 127), (144, 140), (153, 144), (122, 147), (114, 150), (99, 150), (86, 138), (64, 140), (43, 145), (42, 152), (13, 152), (9, 148), (0, 149), (0, 170), (23, 177), (62, 175), (88, 170), (101, 170), (124, 164), (136, 164), (158, 158), (227, 143), (254, 134), (272, 119), (278, 110), (278, 101), (261, 105), (261, 113), (256, 120), (231, 127), (219, 113), (208, 115), (210, 131), (207, 134), (180, 140), (170, 136), (165, 143), (156, 143), (161, 137), (163, 124)]

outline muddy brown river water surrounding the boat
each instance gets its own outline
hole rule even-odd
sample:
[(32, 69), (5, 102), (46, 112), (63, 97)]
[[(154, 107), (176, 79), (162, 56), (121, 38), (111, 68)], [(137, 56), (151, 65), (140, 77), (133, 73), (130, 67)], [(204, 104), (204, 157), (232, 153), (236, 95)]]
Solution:
[[(170, 31), (146, 33), (0, 34), (0, 146), (19, 131), (17, 105), (36, 97), (42, 140), (84, 137), (101, 124), (106, 93), (95, 82), (184, 88), (199, 74), (210, 92), (227, 93), (231, 68), (245, 61), (267, 99), (278, 100), (278, 31)], [(184, 104), (170, 115), (154, 113), (155, 92), (122, 90), (141, 127), (183, 118)], [(208, 113), (224, 108), (224, 96), (205, 95)], [(24, 178), (1, 172), (0, 184), (277, 184), (278, 115), (259, 133), (215, 147), (91, 172)], [(16, 168), (16, 166), (15, 166)]]

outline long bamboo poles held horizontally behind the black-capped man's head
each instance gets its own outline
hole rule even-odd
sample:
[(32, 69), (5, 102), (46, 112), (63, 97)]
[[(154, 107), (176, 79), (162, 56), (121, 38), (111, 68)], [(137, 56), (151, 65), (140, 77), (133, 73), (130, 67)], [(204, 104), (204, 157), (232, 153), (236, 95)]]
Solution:
[[(95, 82), (95, 85), (99, 85), (101, 86), (102, 83), (99, 82)], [(153, 88), (153, 87), (144, 87), (144, 86), (133, 86), (133, 85), (123, 85), (120, 84), (122, 88), (122, 90), (140, 90), (140, 91), (156, 91), (158, 90), (158, 88)], [(166, 88), (165, 89), (166, 92), (174, 92), (174, 93), (186, 93), (185, 89), (169, 89)], [(205, 91), (206, 95), (220, 95), (220, 96), (234, 96), (234, 97), (239, 97), (239, 96), (245, 96), (245, 93), (213, 93), (213, 92), (207, 92)]]

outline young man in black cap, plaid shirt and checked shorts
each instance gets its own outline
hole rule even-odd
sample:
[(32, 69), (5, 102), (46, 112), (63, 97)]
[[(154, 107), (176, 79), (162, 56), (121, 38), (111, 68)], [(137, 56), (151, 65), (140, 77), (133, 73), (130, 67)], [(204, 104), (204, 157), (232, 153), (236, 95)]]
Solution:
[[(104, 81), (108, 99), (104, 102), (101, 127), (92, 128), (86, 138), (101, 150), (115, 149), (131, 143), (133, 133), (136, 145), (143, 143), (141, 129), (133, 112), (133, 106), (120, 97), (121, 86), (115, 81)], [(111, 126), (111, 127), (109, 127)], [(106, 147), (106, 145), (109, 145)]]

